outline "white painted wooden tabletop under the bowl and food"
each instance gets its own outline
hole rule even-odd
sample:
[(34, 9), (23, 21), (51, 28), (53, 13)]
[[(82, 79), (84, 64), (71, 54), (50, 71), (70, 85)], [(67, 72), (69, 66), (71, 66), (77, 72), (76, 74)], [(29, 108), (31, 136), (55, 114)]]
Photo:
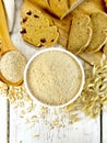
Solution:
[[(11, 38), (14, 45), (29, 58), (35, 50), (24, 43), (20, 35), (22, 0), (15, 2), (16, 16)], [(0, 96), (0, 143), (107, 143), (106, 121), (107, 113), (102, 113), (97, 119), (84, 118), (82, 121), (60, 129), (50, 130), (43, 122), (36, 123), (31, 129), (20, 121), (16, 111), (4, 97)], [(35, 134), (36, 138), (34, 138)]]

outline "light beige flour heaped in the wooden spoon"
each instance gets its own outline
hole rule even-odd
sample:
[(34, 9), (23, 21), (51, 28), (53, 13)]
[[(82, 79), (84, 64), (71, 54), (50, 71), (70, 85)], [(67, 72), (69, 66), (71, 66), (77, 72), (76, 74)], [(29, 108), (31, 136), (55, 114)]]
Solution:
[(11, 81), (19, 82), (23, 79), (26, 59), (19, 51), (5, 53), (0, 61), (0, 73)]

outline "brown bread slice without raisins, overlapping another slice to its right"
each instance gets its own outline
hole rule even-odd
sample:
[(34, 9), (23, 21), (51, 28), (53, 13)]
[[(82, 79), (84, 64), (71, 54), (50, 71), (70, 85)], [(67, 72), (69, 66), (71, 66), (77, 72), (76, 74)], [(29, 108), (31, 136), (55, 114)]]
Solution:
[(86, 14), (76, 14), (72, 19), (68, 50), (74, 54), (84, 51), (92, 40), (91, 19)]

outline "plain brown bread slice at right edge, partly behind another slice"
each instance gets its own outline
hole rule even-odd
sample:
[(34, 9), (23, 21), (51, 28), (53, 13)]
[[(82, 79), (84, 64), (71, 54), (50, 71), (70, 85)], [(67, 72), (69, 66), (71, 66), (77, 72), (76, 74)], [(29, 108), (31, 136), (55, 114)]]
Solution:
[(94, 12), (91, 14), (93, 35), (85, 52), (97, 52), (107, 41), (107, 14)]

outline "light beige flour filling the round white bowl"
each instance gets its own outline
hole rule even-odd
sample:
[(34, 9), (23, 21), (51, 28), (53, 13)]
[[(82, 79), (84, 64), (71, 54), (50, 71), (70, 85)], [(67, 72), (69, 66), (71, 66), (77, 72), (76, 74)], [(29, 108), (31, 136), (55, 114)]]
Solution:
[(27, 81), (38, 100), (59, 106), (76, 95), (82, 82), (82, 72), (68, 54), (45, 52), (29, 65)]

